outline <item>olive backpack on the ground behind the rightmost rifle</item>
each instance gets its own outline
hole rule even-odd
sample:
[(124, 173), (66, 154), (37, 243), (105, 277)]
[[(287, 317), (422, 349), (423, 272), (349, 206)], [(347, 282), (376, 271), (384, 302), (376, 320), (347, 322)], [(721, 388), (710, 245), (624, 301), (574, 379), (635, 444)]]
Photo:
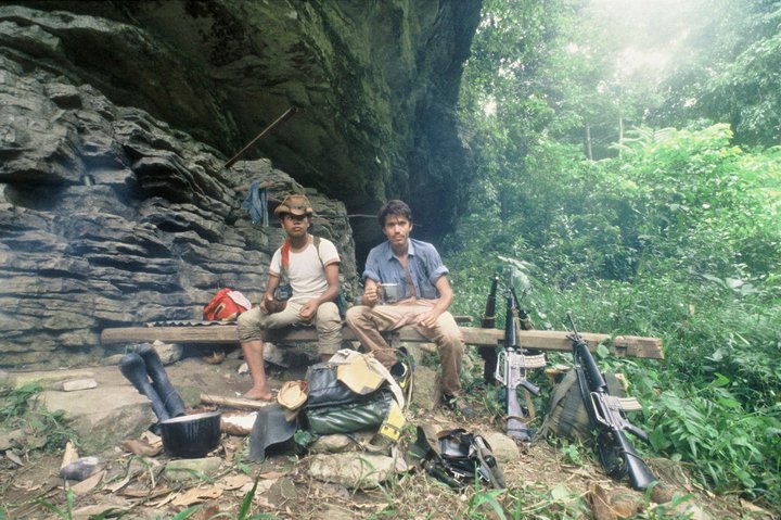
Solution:
[[(603, 373), (611, 395), (625, 397), (626, 392), (615, 373)], [(546, 418), (537, 432), (539, 437), (563, 437), (569, 441), (590, 443), (593, 440), (588, 411), (584, 405), (577, 372), (567, 370), (561, 381), (553, 388), (548, 402)]]

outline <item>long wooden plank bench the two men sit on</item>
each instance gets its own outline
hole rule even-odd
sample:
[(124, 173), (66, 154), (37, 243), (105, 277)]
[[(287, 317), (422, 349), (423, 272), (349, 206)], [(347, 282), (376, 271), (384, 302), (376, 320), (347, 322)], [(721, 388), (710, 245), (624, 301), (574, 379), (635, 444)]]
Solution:
[[(504, 331), (497, 329), (479, 329), (476, 327), (459, 327), (468, 345), (501, 346), (504, 342)], [(558, 330), (525, 330), (520, 331), (518, 343), (523, 347), (539, 348), (541, 351), (572, 352), (572, 342), (567, 339), (569, 332)], [(402, 327), (386, 332), (389, 341), (424, 343), (422, 350), (433, 352), (434, 346), (412, 327)], [(613, 355), (620, 357), (644, 357), (664, 359), (662, 340), (658, 338), (641, 338), (635, 335), (617, 335), (611, 340), (609, 334), (580, 332), (580, 337), (588, 343), (591, 351), (602, 342)], [(239, 344), (239, 333), (235, 324), (214, 325), (183, 325), (183, 326), (144, 326), (118, 327), (104, 329), (101, 332), (101, 343), (137, 343), (153, 342), (165, 343), (194, 343), (194, 344)], [(348, 327), (342, 329), (345, 341), (358, 341)], [(265, 341), (272, 343), (298, 343), (317, 341), (317, 331), (311, 327), (289, 327), (266, 331)], [(425, 344), (428, 344), (427, 346)]]

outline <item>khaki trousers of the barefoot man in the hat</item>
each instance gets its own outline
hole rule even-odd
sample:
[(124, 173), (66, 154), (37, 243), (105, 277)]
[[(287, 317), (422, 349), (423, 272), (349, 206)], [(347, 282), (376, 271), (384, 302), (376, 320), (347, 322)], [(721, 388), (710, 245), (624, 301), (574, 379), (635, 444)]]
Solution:
[(333, 302), (325, 302), (318, 307), (317, 315), (310, 324), (298, 317), (303, 303), (289, 301), (284, 310), (274, 314), (263, 314), (260, 307), (253, 307), (239, 315), (239, 341), (246, 343), (257, 341), (263, 331), (281, 329), (289, 325), (315, 325), (318, 331), (318, 352), (320, 354), (335, 354), (342, 347), (342, 319), (338, 308)]

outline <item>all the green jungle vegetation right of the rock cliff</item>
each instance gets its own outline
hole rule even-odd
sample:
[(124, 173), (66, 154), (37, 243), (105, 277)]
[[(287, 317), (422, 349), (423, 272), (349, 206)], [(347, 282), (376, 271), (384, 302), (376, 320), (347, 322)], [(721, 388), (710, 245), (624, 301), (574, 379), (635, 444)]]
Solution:
[(763, 0), (486, 0), (475, 186), (444, 248), (459, 313), (512, 268), (538, 328), (661, 338), (664, 362), (600, 359), (644, 406), (645, 453), (776, 505), (780, 22)]

